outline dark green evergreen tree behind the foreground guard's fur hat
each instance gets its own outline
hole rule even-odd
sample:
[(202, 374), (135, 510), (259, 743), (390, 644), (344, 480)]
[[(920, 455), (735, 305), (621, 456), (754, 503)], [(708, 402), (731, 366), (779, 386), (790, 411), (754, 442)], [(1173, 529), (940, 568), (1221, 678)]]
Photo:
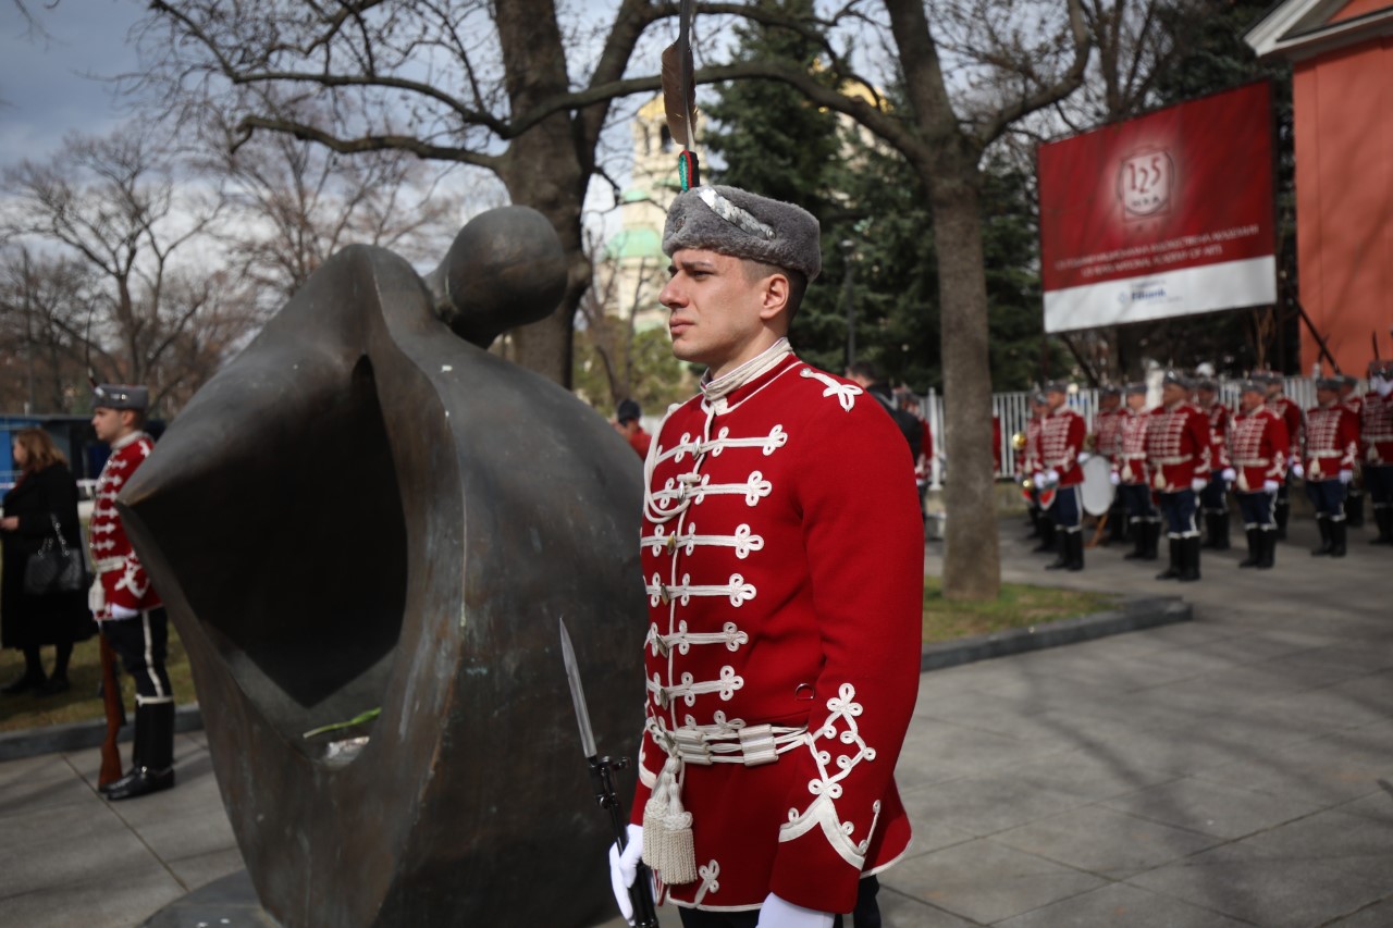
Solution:
[[(765, 3), (804, 17), (811, 8), (808, 0)], [(777, 56), (819, 74), (819, 47), (802, 35), (765, 26), (738, 35), (741, 59)], [(893, 88), (886, 99), (893, 109)], [(717, 121), (706, 134), (723, 162), (712, 171), (717, 183), (797, 202), (822, 223), (822, 274), (791, 329), (800, 355), (829, 371), (846, 366), (850, 301), (858, 359), (918, 393), (942, 390), (933, 223), (924, 185), (904, 159), (783, 84), (722, 86), (705, 110)], [(999, 389), (1027, 389), (1036, 379), (1042, 337), (1029, 177), (993, 162), (983, 209), (992, 379)]]

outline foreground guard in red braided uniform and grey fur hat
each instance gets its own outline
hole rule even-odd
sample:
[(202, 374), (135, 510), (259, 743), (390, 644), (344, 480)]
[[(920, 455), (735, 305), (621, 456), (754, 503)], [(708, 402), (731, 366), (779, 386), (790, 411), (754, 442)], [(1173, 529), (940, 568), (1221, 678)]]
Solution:
[(879, 403), (784, 337), (819, 270), (811, 215), (698, 187), (663, 249), (673, 354), (708, 372), (645, 467), (648, 698), (616, 882), (641, 853), (687, 927), (879, 924), (873, 875), (910, 843), (914, 461)]

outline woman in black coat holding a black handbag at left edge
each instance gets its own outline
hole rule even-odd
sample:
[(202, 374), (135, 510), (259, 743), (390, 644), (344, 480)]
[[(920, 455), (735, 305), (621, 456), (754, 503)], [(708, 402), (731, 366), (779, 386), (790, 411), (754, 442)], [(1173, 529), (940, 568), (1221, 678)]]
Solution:
[[(29, 555), (45, 538), (53, 538), (53, 517), (68, 546), (82, 546), (78, 523), (78, 485), (67, 458), (42, 429), (14, 435), (14, 463), (20, 481), (4, 496), (0, 542), (4, 543), (3, 585), (0, 585), (0, 644), (24, 651), (24, 676), (0, 687), (13, 694), (33, 690), (39, 695), (68, 688), (68, 658), (72, 642), (92, 637), (92, 613), (86, 591), (31, 596), (24, 591), (24, 569)], [(53, 674), (43, 673), (42, 645), (57, 648)]]

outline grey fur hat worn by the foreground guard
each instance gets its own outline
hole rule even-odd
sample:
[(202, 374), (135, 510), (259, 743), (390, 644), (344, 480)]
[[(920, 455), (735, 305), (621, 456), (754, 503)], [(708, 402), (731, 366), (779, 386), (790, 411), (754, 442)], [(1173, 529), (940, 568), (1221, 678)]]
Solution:
[(678, 194), (667, 210), (663, 254), (703, 248), (797, 270), (812, 280), (822, 270), (819, 234), (818, 220), (801, 206), (738, 187), (694, 187)]

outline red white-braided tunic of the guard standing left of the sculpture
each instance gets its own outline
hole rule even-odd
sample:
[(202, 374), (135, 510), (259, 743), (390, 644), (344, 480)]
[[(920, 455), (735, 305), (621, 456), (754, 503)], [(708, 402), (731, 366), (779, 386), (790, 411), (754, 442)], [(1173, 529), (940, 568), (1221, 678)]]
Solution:
[(111, 617), (111, 606), (127, 609), (156, 609), (159, 594), (150, 587), (150, 578), (141, 566), (131, 541), (125, 536), (121, 517), (116, 511), (116, 495), (131, 479), (145, 458), (155, 450), (155, 439), (145, 432), (132, 432), (116, 442), (106, 467), (96, 478), (96, 502), (92, 506), (92, 523), (88, 525), (92, 564), (96, 580), (102, 584), (104, 602), (93, 612), (98, 621)]

